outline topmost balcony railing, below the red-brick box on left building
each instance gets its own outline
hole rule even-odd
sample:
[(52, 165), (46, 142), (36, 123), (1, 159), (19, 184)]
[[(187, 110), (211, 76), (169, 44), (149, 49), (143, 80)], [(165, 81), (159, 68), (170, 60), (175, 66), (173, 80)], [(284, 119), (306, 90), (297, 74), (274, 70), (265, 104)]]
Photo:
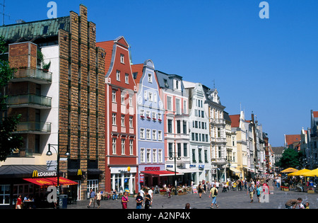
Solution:
[(52, 73), (32, 67), (20, 68), (13, 74), (13, 79), (11, 79), (11, 81), (31, 81), (37, 84), (50, 84), (52, 82)]

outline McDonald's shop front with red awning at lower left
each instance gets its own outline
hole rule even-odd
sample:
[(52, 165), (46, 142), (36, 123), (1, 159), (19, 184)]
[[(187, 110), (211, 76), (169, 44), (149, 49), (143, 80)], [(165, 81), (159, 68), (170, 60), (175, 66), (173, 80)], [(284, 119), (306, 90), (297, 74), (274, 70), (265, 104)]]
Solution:
[(33, 201), (35, 207), (50, 207), (47, 188), (61, 185), (60, 194), (67, 194), (75, 181), (57, 176), (56, 171), (47, 171), (45, 165), (8, 165), (0, 167), (0, 208), (14, 208), (18, 195)]

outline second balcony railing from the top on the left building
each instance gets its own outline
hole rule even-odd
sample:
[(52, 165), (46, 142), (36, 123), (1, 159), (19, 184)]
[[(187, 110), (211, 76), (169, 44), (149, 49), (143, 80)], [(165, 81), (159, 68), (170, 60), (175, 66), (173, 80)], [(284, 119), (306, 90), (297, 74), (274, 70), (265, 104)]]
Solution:
[(32, 107), (32, 108), (51, 108), (52, 98), (37, 96), (35, 94), (9, 96), (6, 104), (10, 108)]

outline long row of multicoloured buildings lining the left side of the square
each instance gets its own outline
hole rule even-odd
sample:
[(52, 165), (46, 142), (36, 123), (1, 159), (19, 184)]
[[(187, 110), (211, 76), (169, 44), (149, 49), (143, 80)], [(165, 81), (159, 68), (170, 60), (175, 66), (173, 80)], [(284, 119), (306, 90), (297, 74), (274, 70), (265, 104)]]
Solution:
[(90, 189), (132, 193), (264, 173), (261, 126), (244, 113), (236, 126), (216, 88), (161, 72), (151, 59), (132, 64), (124, 37), (96, 42), (96, 33), (82, 4), (79, 14), (0, 27), (1, 59), (18, 69), (1, 114), (22, 114), (15, 134), (23, 136), (0, 163), (0, 206), (19, 194), (41, 198), (47, 185), (37, 180), (57, 176), (57, 166), (61, 193), (77, 200)]

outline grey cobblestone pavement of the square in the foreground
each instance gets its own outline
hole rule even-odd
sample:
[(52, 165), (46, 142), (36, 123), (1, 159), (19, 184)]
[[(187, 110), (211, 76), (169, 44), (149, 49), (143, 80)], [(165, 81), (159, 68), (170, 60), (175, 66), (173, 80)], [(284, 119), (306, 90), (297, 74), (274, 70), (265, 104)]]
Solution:
[[(285, 209), (285, 202), (290, 199), (302, 198), (302, 202), (310, 202), (310, 209), (318, 208), (318, 193), (309, 194), (298, 191), (281, 191), (276, 187), (270, 187), (271, 194), (269, 202), (257, 202), (257, 196), (254, 195), (254, 202), (250, 202), (247, 191), (229, 191), (222, 193), (219, 190), (217, 203), (218, 209)], [(167, 198), (163, 195), (154, 195), (152, 209), (183, 209), (184, 205), (189, 202), (195, 209), (210, 209), (211, 198), (209, 193), (202, 194), (199, 198), (198, 194), (174, 195)], [(88, 209), (89, 200), (79, 200), (76, 205), (68, 205), (67, 209)], [(90, 207), (90, 209), (97, 209)], [(102, 200), (100, 209), (122, 209), (120, 200)], [(135, 198), (129, 198), (128, 209), (136, 209)]]

